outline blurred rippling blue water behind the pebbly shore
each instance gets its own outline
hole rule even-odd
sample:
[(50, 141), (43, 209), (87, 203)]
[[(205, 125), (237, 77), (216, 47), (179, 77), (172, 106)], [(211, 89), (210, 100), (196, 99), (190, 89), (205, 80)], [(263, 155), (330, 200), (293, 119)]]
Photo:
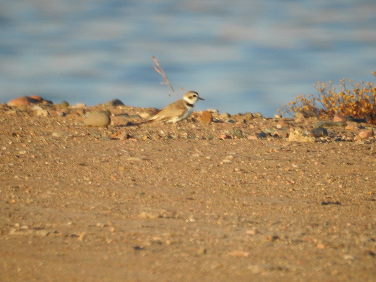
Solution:
[(375, 81), (374, 0), (0, 0), (0, 102), (276, 110), (317, 81)]

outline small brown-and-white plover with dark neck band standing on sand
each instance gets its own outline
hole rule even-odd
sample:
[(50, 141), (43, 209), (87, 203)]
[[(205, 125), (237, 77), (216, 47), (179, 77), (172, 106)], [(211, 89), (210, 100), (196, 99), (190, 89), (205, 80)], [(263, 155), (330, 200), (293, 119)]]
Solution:
[(153, 113), (153, 115), (148, 118), (147, 122), (150, 124), (160, 123), (162, 121), (165, 123), (173, 123), (172, 128), (174, 129), (176, 137), (179, 138), (176, 123), (192, 114), (194, 105), (198, 100), (204, 99), (200, 98), (199, 93), (188, 91), (184, 94), (183, 99), (177, 100)]

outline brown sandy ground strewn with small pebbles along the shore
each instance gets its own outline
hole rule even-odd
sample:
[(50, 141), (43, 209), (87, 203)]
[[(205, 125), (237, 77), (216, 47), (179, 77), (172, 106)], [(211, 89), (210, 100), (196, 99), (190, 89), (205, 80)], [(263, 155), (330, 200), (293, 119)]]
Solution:
[(376, 279), (376, 147), (355, 138), (369, 124), (310, 143), (247, 139), (274, 118), (190, 118), (176, 139), (134, 125), (151, 109), (86, 109), (111, 111), (99, 128), (41, 107), (0, 107), (0, 280)]

